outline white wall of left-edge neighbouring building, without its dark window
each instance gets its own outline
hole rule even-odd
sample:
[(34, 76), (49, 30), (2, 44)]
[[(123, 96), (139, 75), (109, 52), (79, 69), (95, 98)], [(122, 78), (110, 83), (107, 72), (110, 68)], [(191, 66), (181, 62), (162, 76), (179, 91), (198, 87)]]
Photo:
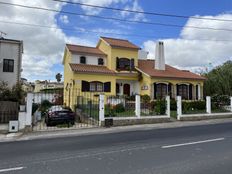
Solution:
[[(8, 82), (11, 87), (20, 79), (21, 60), (20, 44), (0, 42), (0, 81)], [(14, 60), (14, 72), (3, 72), (3, 59)]]

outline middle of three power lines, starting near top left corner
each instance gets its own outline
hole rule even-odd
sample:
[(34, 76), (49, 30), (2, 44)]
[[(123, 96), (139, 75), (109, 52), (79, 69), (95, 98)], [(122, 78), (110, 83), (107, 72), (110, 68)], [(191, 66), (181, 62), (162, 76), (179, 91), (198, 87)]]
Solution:
[(186, 26), (186, 25), (183, 26), (183, 25), (166, 24), (166, 23), (158, 23), (158, 22), (145, 22), (145, 21), (138, 21), (138, 20), (126, 20), (126, 19), (120, 19), (120, 18), (104, 17), (104, 16), (82, 14), (82, 13), (74, 13), (74, 12), (64, 11), (64, 10), (55, 10), (55, 9), (49, 9), (49, 8), (43, 8), (43, 7), (35, 7), (35, 6), (27, 6), (27, 5), (7, 3), (7, 2), (0, 2), (0, 4), (10, 5), (10, 6), (17, 6), (17, 7), (22, 7), (22, 8), (29, 8), (29, 9), (36, 9), (36, 10), (45, 10), (45, 11), (51, 11), (51, 12), (56, 12), (56, 13), (64, 13), (64, 14), (70, 14), (70, 15), (76, 15), (76, 16), (94, 17), (94, 18), (98, 18), (98, 19), (113, 20), (113, 21), (120, 21), (120, 22), (139, 23), (139, 24), (147, 24), (147, 25), (158, 25), (158, 26), (175, 27), (175, 28), (192, 28), (192, 29), (200, 29), (200, 30), (214, 30), (214, 31), (232, 32), (232, 29), (226, 29), (226, 28), (197, 27), (197, 26)]

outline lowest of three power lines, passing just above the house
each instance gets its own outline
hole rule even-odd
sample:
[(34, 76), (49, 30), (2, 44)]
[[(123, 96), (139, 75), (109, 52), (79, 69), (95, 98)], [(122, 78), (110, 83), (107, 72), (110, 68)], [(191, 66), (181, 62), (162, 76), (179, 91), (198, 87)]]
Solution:
[[(1, 21), (0, 23), (5, 24), (12, 24), (12, 25), (22, 25), (27, 27), (40, 27), (40, 28), (47, 28), (47, 29), (62, 29), (66, 31), (73, 31), (73, 32), (80, 32), (80, 33), (95, 33), (95, 34), (111, 34), (111, 35), (119, 35), (119, 36), (131, 36), (131, 37), (141, 37), (141, 38), (157, 38), (158, 36), (154, 35), (136, 35), (136, 34), (123, 34), (123, 33), (116, 33), (116, 32), (102, 32), (102, 31), (95, 31), (95, 30), (86, 30), (86, 29), (78, 29), (78, 28), (64, 28), (64, 27), (55, 27), (55, 26), (47, 26), (47, 25), (39, 25), (39, 24), (29, 24), (29, 23), (22, 23), (22, 22), (9, 22), (9, 21)], [(160, 36), (159, 36), (160, 38)], [(163, 39), (168, 39), (164, 38)], [(162, 39), (160, 39), (162, 40)], [(209, 40), (209, 39), (182, 39), (180, 40), (188, 40), (188, 41), (207, 41), (207, 42), (232, 42), (232, 40)]]

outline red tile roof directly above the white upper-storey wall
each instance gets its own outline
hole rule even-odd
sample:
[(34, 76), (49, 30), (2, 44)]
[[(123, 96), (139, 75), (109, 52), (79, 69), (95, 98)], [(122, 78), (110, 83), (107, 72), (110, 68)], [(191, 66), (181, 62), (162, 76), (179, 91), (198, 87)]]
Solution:
[(86, 54), (86, 55), (97, 55), (97, 56), (105, 56), (106, 54), (103, 53), (101, 50), (95, 47), (87, 47), (81, 45), (71, 45), (66, 44), (67, 48), (70, 52), (79, 53), (79, 54)]

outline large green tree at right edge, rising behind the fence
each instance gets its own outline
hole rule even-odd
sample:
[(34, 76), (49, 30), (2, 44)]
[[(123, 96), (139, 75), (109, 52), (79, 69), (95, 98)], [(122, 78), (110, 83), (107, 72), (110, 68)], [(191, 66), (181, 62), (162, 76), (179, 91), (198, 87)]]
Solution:
[(227, 61), (209, 73), (205, 74), (207, 80), (204, 84), (206, 96), (230, 95), (232, 96), (232, 61)]

